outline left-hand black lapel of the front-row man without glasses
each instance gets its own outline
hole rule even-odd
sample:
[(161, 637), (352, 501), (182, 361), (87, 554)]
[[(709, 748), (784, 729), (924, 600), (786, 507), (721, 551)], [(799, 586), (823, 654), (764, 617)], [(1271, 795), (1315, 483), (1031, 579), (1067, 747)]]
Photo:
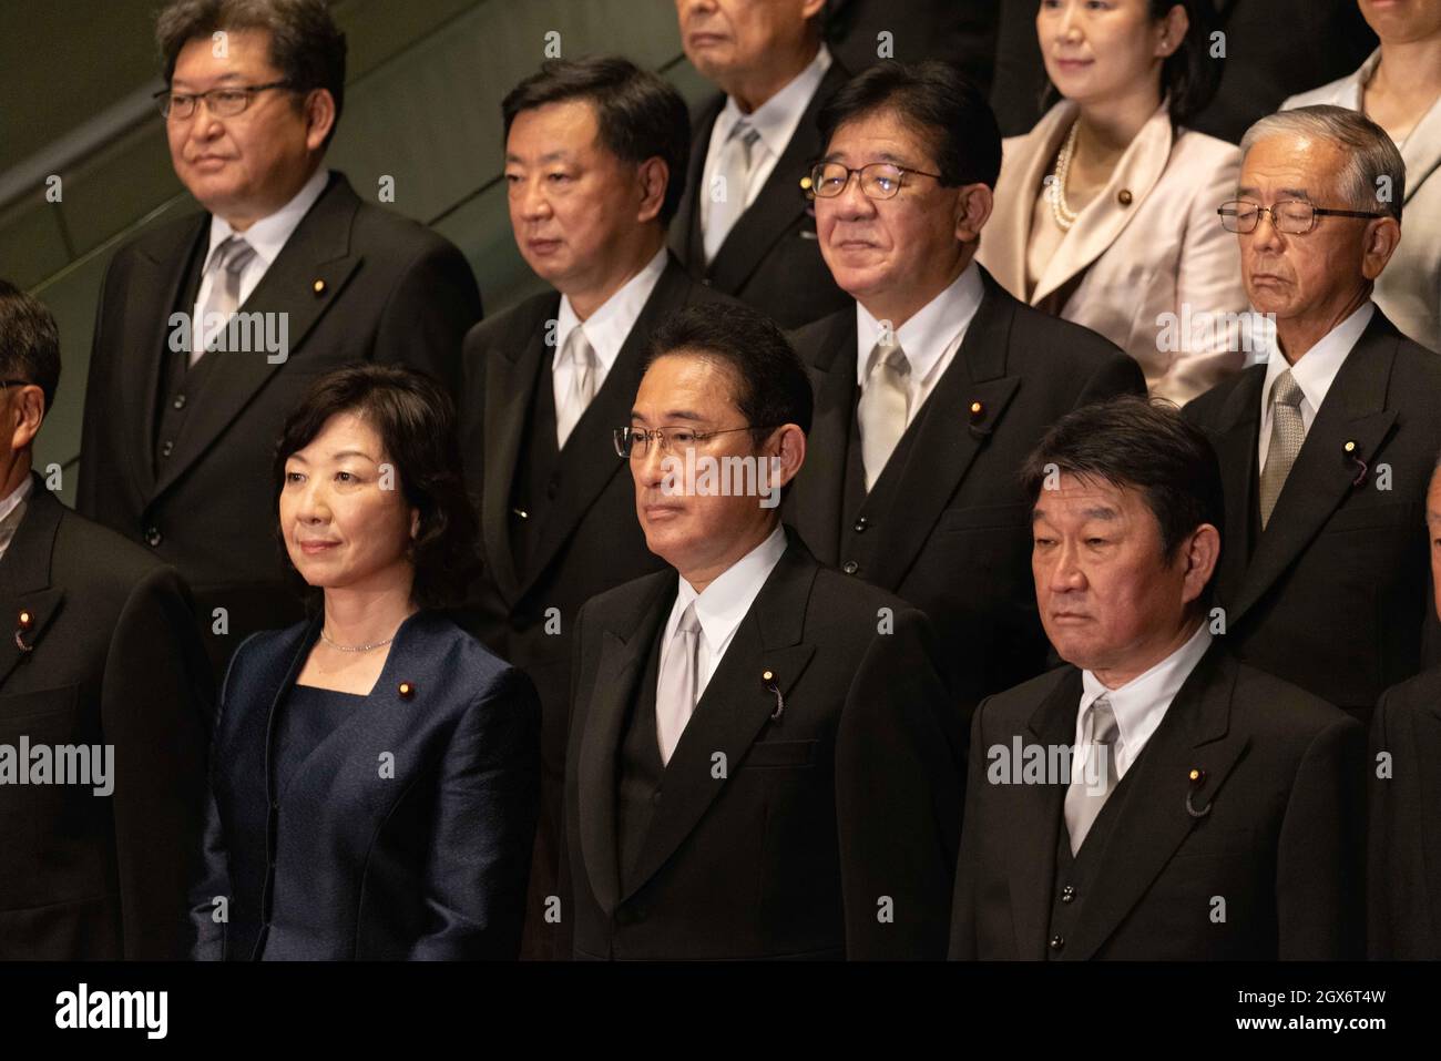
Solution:
[[(1071, 667), (1050, 695), (1040, 702), (1026, 729), (1032, 745), (1069, 747), (1075, 741), (1076, 711), (1081, 705), (1081, 672)], [(1050, 927), (1050, 895), (1056, 875), (1056, 836), (1061, 829), (1062, 784), (1016, 784), (1006, 826), (1010, 878), (1010, 917), (1016, 930), (1016, 956), (1043, 959)]]

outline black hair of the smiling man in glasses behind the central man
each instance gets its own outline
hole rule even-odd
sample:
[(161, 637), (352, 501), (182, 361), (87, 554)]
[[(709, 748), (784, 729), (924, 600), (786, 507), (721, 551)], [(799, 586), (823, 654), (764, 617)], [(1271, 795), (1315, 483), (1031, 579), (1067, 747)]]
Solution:
[(996, 187), (1000, 127), (986, 94), (955, 63), (888, 59), (859, 74), (821, 108), (821, 143), (829, 148), (837, 128), (879, 112), (895, 114), (925, 140), (942, 185)]

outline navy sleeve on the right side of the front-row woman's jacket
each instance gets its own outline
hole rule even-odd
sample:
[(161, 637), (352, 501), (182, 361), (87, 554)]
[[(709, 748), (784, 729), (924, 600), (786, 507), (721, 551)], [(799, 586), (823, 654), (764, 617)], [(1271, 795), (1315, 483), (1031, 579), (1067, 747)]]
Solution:
[(461, 716), (441, 763), (412, 960), (514, 960), (540, 800), (540, 703), (514, 667)]

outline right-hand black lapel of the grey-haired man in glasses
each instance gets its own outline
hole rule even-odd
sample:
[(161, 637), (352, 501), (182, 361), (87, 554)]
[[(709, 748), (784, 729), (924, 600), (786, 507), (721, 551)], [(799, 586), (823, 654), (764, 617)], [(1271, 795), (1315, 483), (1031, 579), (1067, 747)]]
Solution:
[[(1357, 489), (1355, 479), (1360, 469), (1344, 445), (1355, 443), (1355, 453), (1368, 466), (1375, 466), (1376, 454), (1396, 419), (1395, 411), (1386, 408), (1396, 339), (1385, 334), (1386, 330), (1389, 323), (1378, 310), (1336, 373), (1285, 479), (1271, 520), (1257, 541), (1241, 592), (1229, 603), (1228, 623), (1235, 624), (1251, 610), (1310, 545), (1346, 496)], [(1252, 453), (1249, 464), (1255, 460)]]

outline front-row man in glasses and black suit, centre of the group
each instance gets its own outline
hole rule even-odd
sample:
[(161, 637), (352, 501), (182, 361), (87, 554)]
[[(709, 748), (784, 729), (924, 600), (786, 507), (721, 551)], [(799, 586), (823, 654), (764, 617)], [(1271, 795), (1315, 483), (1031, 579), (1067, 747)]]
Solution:
[(565, 953), (940, 957), (960, 826), (925, 617), (780, 520), (811, 394), (774, 324), (690, 308), (630, 427), (672, 569), (586, 603), (565, 770)]

